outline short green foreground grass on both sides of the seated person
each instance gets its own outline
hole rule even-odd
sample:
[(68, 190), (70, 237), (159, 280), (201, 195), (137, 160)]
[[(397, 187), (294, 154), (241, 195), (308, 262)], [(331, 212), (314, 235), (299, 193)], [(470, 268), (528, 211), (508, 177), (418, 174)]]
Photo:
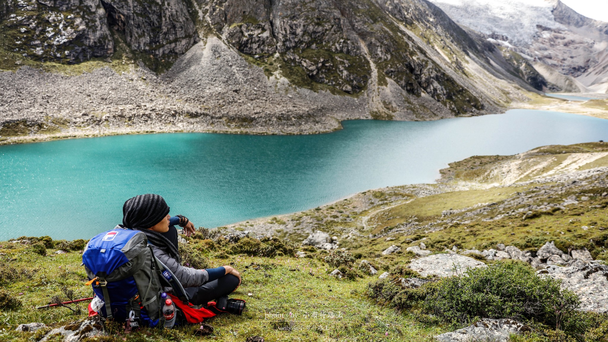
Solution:
[[(2, 288), (21, 300), (23, 306), (18, 310), (1, 310), (0, 328), (13, 330), (16, 324), (29, 322), (43, 322), (56, 327), (85, 317), (85, 313), (75, 315), (61, 307), (33, 309), (37, 305), (47, 304), (52, 296), (61, 295), (64, 286), (74, 290), (78, 298), (91, 296), (91, 288), (84, 285), (88, 279), (80, 266), (80, 253), (72, 251), (57, 256), (40, 256), (28, 253), (28, 248), (22, 245), (15, 249), (0, 248), (0, 251), (5, 253), (1, 259), (5, 265), (9, 263), (17, 268), (36, 270), (32, 277), (2, 283)], [(52, 254), (54, 250), (47, 251), (55, 255)], [(226, 314), (209, 319), (207, 323), (215, 327), (213, 340), (216, 341), (244, 341), (254, 335), (262, 336), (266, 341), (283, 341), (285, 338), (295, 341), (422, 341), (444, 330), (437, 325), (418, 323), (412, 316), (397, 313), (390, 307), (376, 305), (365, 296), (365, 288), (371, 277), (339, 281), (327, 274), (328, 265), (318, 259), (249, 257), (243, 254), (227, 259), (213, 257), (213, 254), (207, 256), (210, 256), (213, 267), (231, 263), (241, 270), (243, 284), (233, 297), (247, 301), (243, 316)], [(260, 269), (255, 270), (255, 266), (260, 266)], [(252, 293), (252, 296), (248, 296), (248, 293)], [(86, 304), (79, 307), (85, 312)], [(290, 312), (299, 315), (298, 318), (289, 319)], [(333, 312), (336, 316), (342, 315), (342, 318), (313, 318), (313, 313), (321, 315), (322, 312)], [(267, 313), (283, 314), (286, 318), (269, 319)], [(308, 318), (304, 316), (306, 313)], [(309, 322), (315, 320), (323, 322)], [(322, 326), (322, 330), (318, 329), (319, 326)], [(280, 327), (303, 330), (290, 332), (280, 330)], [(175, 339), (210, 339), (194, 337), (192, 330), (192, 326), (179, 327)], [(148, 332), (152, 333), (154, 340), (173, 340), (156, 329), (145, 329), (126, 335), (126, 341), (138, 340)], [(388, 336), (386, 332), (389, 332)], [(27, 341), (30, 335), (0, 333), (0, 340)]]

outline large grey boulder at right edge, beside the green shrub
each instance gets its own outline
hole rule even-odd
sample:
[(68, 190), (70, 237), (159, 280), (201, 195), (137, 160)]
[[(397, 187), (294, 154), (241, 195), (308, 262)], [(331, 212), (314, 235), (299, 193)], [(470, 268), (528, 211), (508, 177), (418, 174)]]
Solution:
[(608, 310), (608, 266), (587, 263), (583, 266), (548, 266), (537, 271), (541, 277), (562, 281), (561, 287), (572, 290), (581, 299), (581, 310), (606, 312)]

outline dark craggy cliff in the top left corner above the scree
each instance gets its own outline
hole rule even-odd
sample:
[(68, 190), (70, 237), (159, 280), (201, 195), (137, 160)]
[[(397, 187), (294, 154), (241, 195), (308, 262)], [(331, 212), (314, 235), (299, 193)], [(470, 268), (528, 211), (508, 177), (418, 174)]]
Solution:
[(198, 42), (184, 2), (4, 0), (2, 47), (41, 61), (77, 63), (114, 53), (110, 28), (137, 52), (184, 54)]

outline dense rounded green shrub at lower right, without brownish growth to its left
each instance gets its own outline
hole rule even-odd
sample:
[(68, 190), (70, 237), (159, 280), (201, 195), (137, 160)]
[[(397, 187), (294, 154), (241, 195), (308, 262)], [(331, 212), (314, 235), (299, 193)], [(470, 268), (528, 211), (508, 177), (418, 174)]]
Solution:
[(534, 319), (561, 329), (574, 323), (580, 302), (559, 284), (537, 277), (527, 265), (498, 262), (429, 285), (424, 307), (452, 323), (470, 323), (478, 317)]

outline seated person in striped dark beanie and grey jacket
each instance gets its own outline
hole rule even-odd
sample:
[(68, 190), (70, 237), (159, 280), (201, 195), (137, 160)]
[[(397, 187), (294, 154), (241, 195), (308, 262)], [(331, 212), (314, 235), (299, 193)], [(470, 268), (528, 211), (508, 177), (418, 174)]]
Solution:
[(205, 270), (182, 265), (175, 225), (184, 228), (186, 236), (190, 236), (195, 228), (181, 215), (171, 217), (169, 206), (160, 195), (146, 194), (130, 198), (123, 205), (122, 212), (123, 226), (146, 234), (154, 255), (175, 274), (192, 304), (205, 305), (227, 296), (241, 285), (241, 274), (229, 265)]

